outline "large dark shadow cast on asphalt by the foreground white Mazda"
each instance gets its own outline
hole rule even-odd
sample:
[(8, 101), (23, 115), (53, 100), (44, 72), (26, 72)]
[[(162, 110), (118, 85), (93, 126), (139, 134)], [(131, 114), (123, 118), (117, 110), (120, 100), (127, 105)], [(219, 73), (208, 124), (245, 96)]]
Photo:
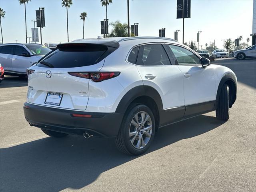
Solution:
[[(146, 154), (209, 132), (223, 123), (201, 115), (161, 128)], [(0, 189), (20, 192), (80, 189), (101, 173), (138, 157), (119, 152), (114, 138), (47, 137), (0, 149)]]

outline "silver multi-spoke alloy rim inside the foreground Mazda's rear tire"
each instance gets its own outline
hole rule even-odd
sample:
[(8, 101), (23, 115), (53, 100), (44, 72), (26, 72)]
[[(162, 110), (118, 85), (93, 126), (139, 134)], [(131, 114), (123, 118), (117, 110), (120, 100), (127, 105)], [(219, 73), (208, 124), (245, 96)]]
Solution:
[(136, 149), (144, 148), (152, 136), (152, 120), (145, 111), (134, 115), (130, 123), (129, 137), (132, 146)]

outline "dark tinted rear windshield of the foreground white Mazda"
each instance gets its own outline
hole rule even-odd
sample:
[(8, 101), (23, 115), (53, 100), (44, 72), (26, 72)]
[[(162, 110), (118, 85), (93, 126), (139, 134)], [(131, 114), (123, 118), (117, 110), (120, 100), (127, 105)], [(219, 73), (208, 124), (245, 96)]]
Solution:
[(37, 66), (54, 68), (71, 68), (89, 66), (100, 62), (108, 47), (99, 45), (64, 46), (55, 50)]

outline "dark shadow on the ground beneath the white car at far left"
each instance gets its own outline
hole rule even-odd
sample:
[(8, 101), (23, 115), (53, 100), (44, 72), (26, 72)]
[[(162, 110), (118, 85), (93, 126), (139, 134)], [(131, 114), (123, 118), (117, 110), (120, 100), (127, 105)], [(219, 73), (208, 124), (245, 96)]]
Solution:
[(28, 86), (27, 77), (18, 77), (18, 76), (5, 76), (4, 80), (0, 83), (0, 88), (9, 88), (9, 87), (25, 87)]

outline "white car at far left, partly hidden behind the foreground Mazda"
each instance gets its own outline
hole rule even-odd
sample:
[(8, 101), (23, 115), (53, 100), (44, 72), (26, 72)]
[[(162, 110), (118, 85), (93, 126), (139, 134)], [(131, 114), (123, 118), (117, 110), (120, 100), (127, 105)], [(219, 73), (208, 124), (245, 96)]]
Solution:
[(4, 67), (4, 74), (26, 76), (26, 69), (50, 51), (41, 44), (1, 44), (0, 63)]

